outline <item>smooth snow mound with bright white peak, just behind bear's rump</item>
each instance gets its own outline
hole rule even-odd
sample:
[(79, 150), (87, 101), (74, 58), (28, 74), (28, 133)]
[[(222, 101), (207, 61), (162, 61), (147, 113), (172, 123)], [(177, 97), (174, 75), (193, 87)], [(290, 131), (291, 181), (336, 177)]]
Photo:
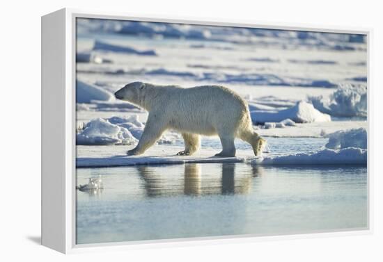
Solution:
[(254, 124), (281, 122), (290, 119), (296, 123), (330, 122), (331, 117), (320, 113), (312, 104), (299, 101), (295, 106), (284, 110), (253, 110), (250, 113)]

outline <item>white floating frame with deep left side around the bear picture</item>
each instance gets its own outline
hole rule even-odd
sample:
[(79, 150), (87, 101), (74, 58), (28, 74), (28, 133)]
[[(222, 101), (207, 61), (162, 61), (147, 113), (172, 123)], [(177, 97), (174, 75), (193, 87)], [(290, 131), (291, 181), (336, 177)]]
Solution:
[[(281, 235), (281, 236), (218, 236), (145, 240), (121, 243), (76, 245), (75, 236), (75, 20), (77, 17), (122, 19), (146, 22), (173, 22), (210, 26), (240, 26), (300, 31), (364, 34), (367, 38), (368, 76), (368, 228), (356, 231)], [(180, 17), (141, 17), (130, 14), (61, 9), (42, 17), (42, 245), (63, 253), (92, 252), (112, 249), (137, 249), (206, 243), (242, 243), (269, 239), (316, 238), (373, 233), (373, 174), (370, 159), (373, 133), (370, 122), (370, 38), (371, 28), (339, 28), (301, 24), (270, 24), (263, 22), (222, 21)], [(140, 245), (137, 245), (140, 244)]]

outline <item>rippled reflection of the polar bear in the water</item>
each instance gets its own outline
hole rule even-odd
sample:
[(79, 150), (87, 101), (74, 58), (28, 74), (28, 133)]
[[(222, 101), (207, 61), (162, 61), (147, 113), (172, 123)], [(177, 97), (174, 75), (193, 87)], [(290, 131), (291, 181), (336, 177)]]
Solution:
[[(185, 164), (183, 179), (158, 172), (155, 167), (136, 167), (143, 180), (148, 197), (174, 195), (232, 195), (247, 194), (253, 177), (262, 174), (263, 167), (252, 167), (251, 173), (235, 173), (235, 163), (221, 164), (221, 176), (217, 172), (203, 172), (203, 164)], [(201, 175), (203, 173), (203, 175)]]

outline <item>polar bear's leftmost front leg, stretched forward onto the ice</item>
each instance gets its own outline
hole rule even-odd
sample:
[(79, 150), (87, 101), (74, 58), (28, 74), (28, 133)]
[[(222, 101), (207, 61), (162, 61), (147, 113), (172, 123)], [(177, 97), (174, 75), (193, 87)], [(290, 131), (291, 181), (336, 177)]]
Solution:
[(149, 115), (139, 143), (136, 147), (134, 147), (134, 149), (129, 150), (127, 155), (132, 156), (143, 154), (146, 149), (151, 147), (162, 136), (165, 129), (166, 125), (162, 120), (159, 120), (158, 118), (155, 119), (155, 117), (151, 117)]

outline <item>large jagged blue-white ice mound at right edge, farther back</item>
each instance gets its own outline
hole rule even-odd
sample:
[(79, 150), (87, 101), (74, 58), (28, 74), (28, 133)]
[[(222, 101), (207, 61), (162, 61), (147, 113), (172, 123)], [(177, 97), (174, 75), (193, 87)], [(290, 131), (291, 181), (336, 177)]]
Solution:
[(341, 85), (329, 97), (309, 97), (315, 108), (339, 117), (367, 115), (367, 87), (360, 84)]

